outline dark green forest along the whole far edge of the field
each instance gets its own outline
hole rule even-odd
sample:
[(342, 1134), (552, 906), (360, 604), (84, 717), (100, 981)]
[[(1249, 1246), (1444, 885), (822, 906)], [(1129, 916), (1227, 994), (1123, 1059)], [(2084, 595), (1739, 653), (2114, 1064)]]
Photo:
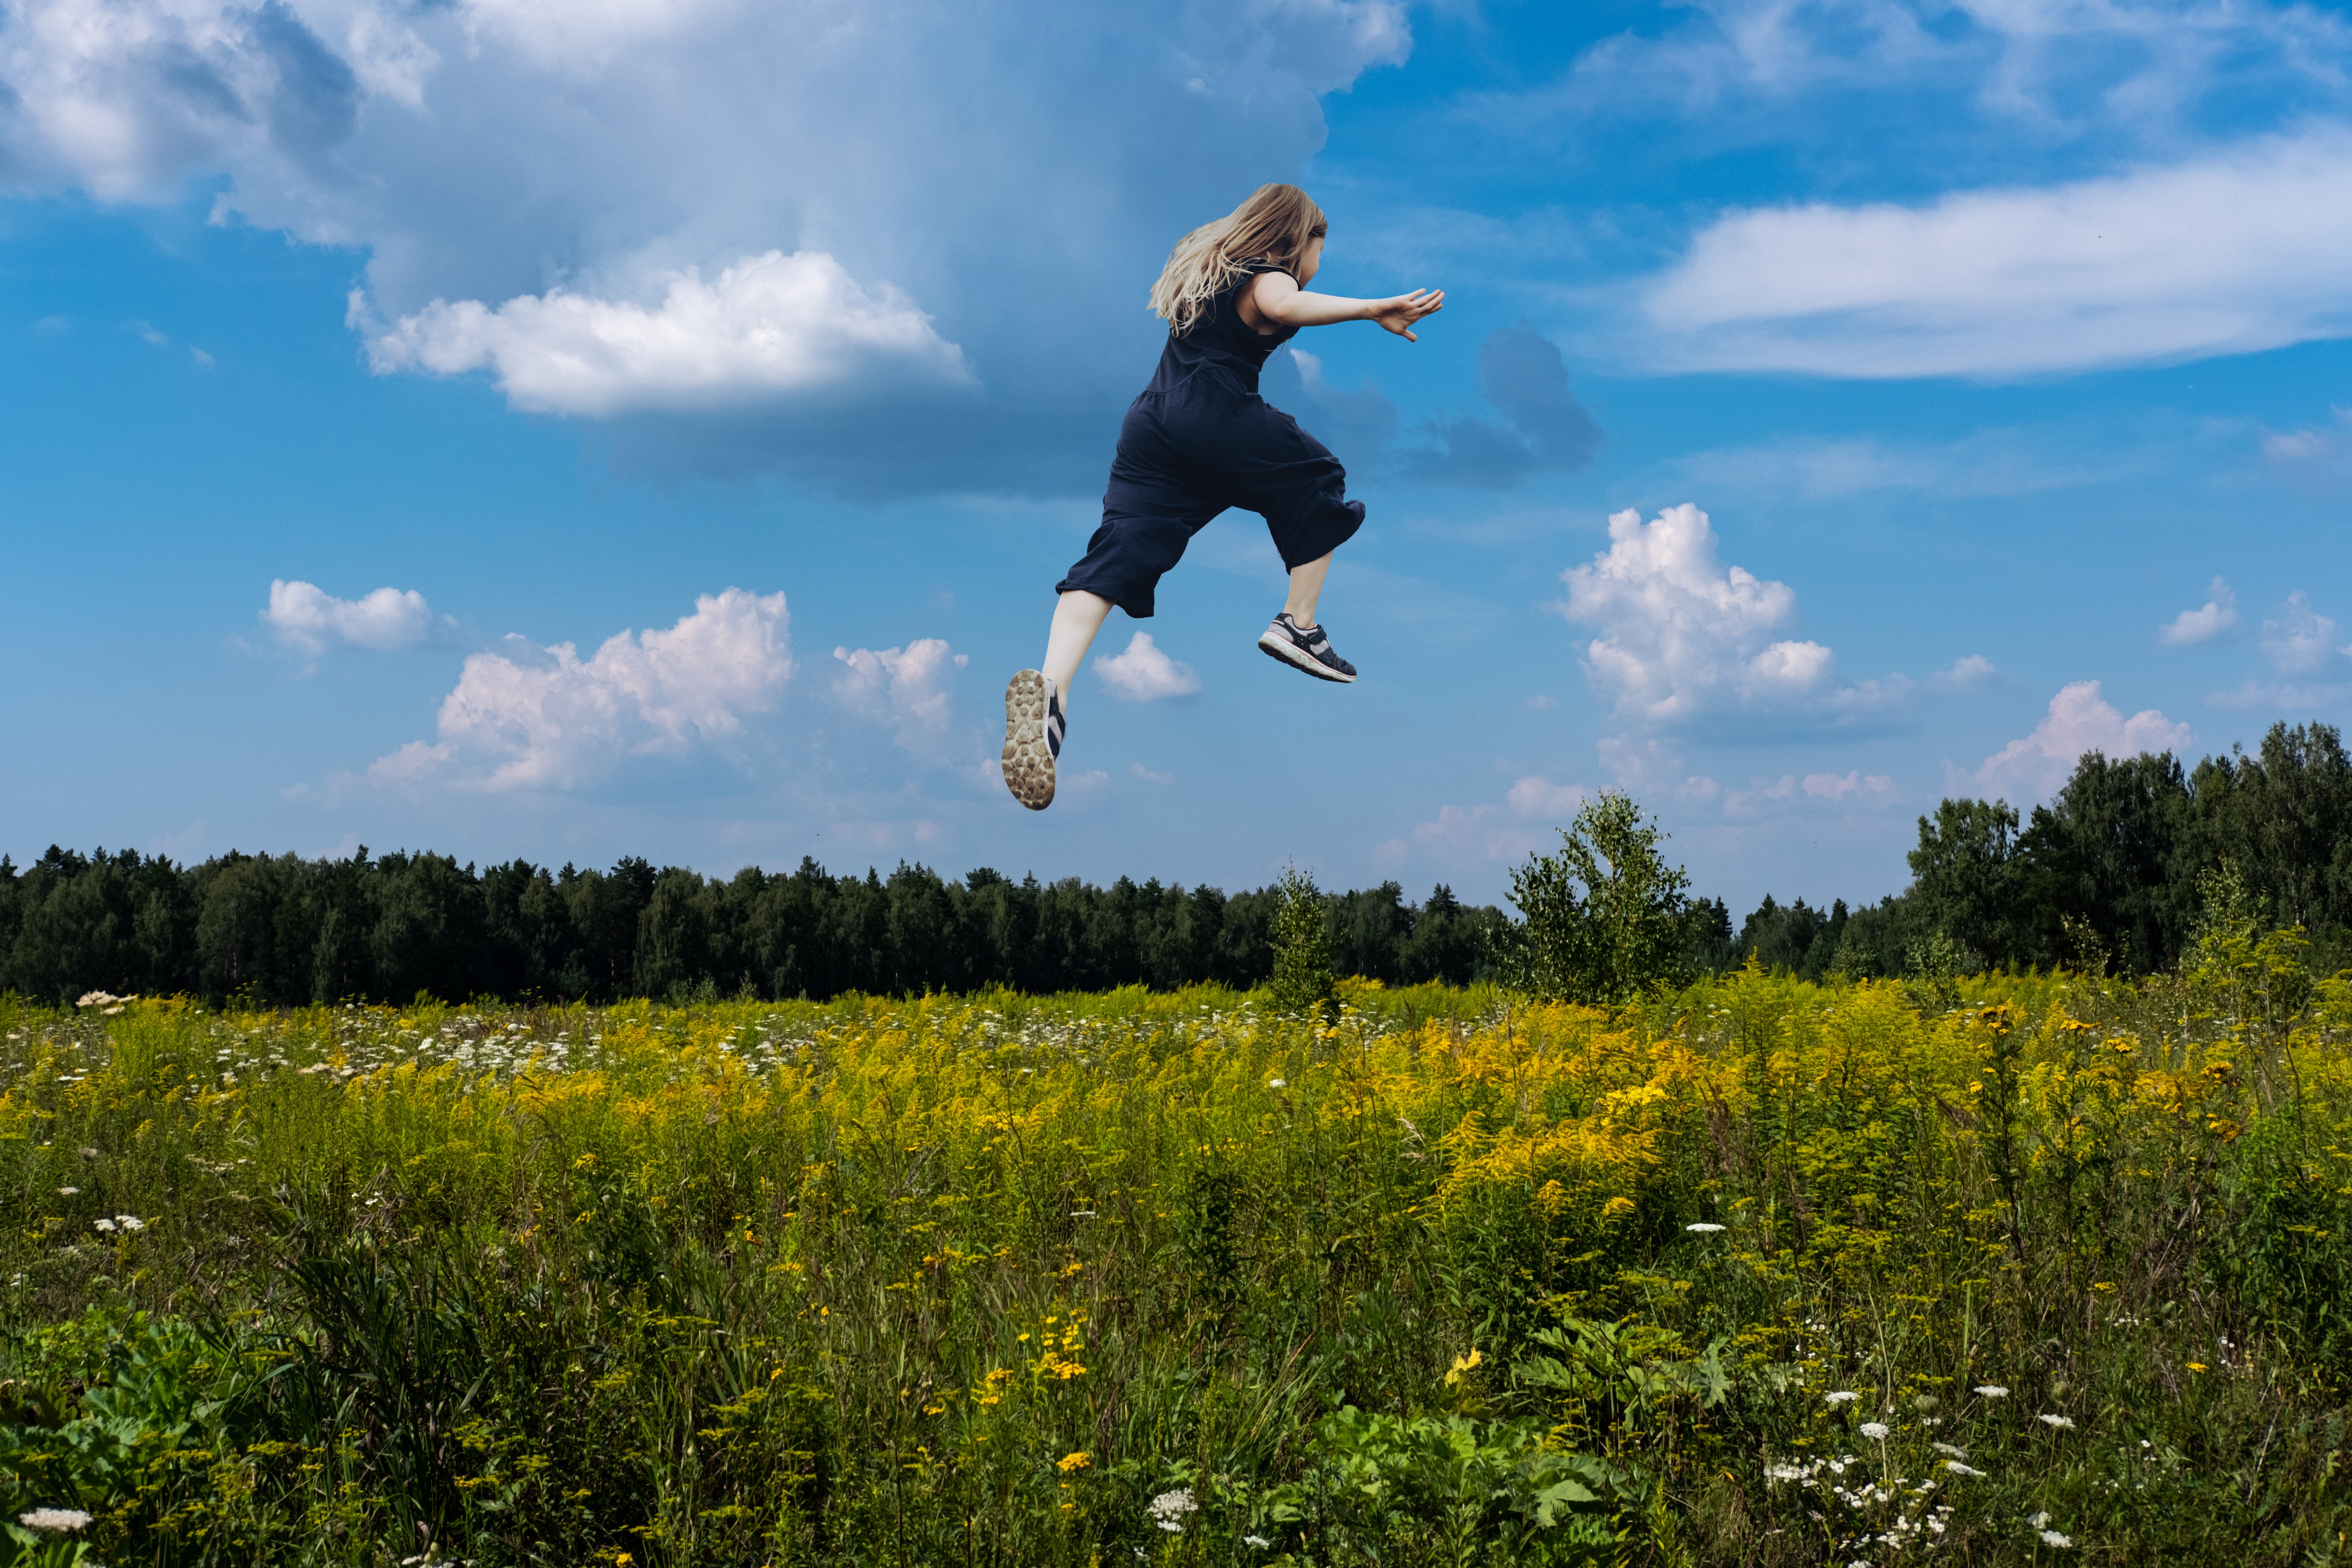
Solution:
[[(2352, 964), (2352, 759), (2326, 724), (2274, 726), (2258, 752), (2194, 769), (2166, 755), (2086, 755), (2046, 806), (1945, 799), (1919, 818), (1912, 884), (1875, 905), (1764, 903), (1733, 931), (1689, 905), (1689, 969), (1900, 976), (1933, 938), (1978, 966), (2178, 964), (2201, 879), (2232, 867), (2314, 959)], [(1705, 867), (1700, 870), (1700, 879)], [(343, 860), (228, 853), (176, 865), (136, 851), (0, 858), (0, 992), (249, 997), (270, 1004), (541, 997), (837, 997), (1011, 985), (1025, 992), (1216, 980), (1272, 971), (1275, 889), (1077, 879), (887, 877), (814, 860), (703, 877), (626, 858), (612, 870), (437, 853)], [(1390, 985), (1486, 976), (1510, 922), (1437, 886), (1324, 898), (1331, 964)]]

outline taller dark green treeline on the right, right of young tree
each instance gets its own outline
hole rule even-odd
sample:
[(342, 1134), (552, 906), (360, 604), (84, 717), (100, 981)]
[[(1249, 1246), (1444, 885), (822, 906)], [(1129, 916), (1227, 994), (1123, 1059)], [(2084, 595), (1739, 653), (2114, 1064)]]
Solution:
[(2256, 755), (2183, 769), (2171, 752), (2089, 752), (2058, 797), (1945, 799), (1919, 818), (1898, 898), (1828, 910), (1771, 898), (1733, 950), (1804, 978), (1898, 976), (1931, 943), (1959, 969), (2173, 969), (2206, 879), (2234, 872), (2267, 926), (2303, 926), (2321, 971), (2352, 964), (2352, 759), (2328, 724), (2274, 724)]

